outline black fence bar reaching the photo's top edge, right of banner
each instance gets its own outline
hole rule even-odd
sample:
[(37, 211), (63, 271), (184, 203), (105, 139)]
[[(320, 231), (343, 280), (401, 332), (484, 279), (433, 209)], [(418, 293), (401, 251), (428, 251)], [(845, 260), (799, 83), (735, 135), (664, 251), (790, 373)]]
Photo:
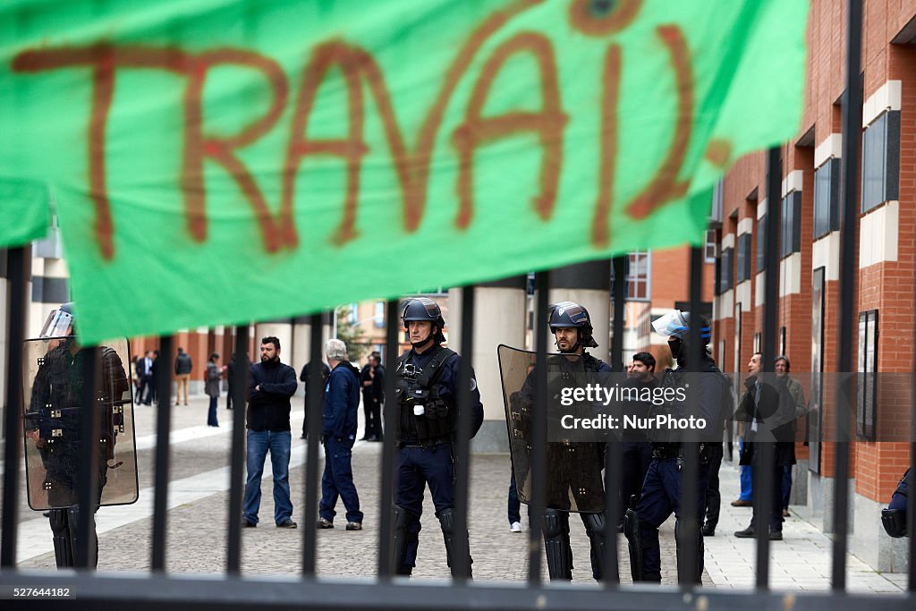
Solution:
[[(856, 265), (856, 221), (858, 217), (859, 137), (862, 128), (862, 2), (846, 3), (846, 91), (843, 104), (843, 161), (841, 167), (841, 206), (843, 220), (840, 231), (840, 311), (837, 345), (850, 346), (853, 339), (853, 302), (858, 266)], [(852, 351), (837, 351), (836, 371), (852, 371)], [(851, 376), (845, 378), (845, 385)], [(841, 383), (843, 384), (843, 383)], [(848, 398), (848, 391), (838, 388), (837, 398)], [(848, 400), (848, 399), (846, 399)], [(849, 442), (843, 437), (848, 431), (849, 412), (842, 400), (836, 406), (836, 439), (834, 443), (834, 559), (831, 584), (835, 591), (846, 587), (846, 547), (849, 507)]]

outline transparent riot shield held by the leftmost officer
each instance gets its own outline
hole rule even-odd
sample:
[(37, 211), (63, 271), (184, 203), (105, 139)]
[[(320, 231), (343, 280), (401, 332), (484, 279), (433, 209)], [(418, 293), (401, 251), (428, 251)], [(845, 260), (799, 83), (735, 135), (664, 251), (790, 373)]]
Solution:
[[(36, 510), (71, 507), (79, 502), (83, 419), (99, 410), (93, 435), (99, 505), (136, 502), (134, 403), (127, 367), (127, 340), (84, 349), (73, 337), (42, 338), (23, 344), (23, 431), (28, 506)], [(97, 355), (95, 400), (82, 405), (83, 367)]]

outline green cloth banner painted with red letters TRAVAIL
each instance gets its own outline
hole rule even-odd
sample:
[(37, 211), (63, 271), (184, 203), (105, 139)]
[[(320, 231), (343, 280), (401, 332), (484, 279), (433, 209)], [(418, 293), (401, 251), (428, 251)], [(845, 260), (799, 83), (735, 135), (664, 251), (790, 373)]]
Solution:
[(6, 185), (47, 185), (98, 341), (697, 244), (798, 129), (807, 11), (6, 2), (0, 245), (48, 218)]

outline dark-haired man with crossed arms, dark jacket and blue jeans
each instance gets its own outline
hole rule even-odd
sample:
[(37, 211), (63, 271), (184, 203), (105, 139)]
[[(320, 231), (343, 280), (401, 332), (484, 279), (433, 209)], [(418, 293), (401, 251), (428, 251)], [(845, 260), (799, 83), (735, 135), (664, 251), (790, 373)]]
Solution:
[(280, 341), (261, 340), (261, 362), (251, 366), (248, 379), (247, 469), (243, 526), (257, 525), (261, 506), (261, 474), (270, 451), (274, 474), (274, 522), (278, 529), (295, 529), (289, 499), (289, 398), (296, 392), (296, 370), (280, 363)]

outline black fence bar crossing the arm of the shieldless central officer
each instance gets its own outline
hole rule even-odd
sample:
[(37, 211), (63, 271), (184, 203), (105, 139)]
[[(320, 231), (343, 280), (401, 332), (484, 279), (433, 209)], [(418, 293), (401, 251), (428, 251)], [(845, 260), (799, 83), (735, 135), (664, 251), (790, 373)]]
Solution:
[(458, 365), (458, 436), (455, 441), (457, 463), (455, 464), (455, 523), (454, 551), (452, 559), (454, 582), (463, 584), (469, 573), (470, 551), (468, 550), (467, 511), (470, 507), (468, 490), (471, 473), (471, 411), (474, 408), (471, 396), (471, 374), (474, 355), (474, 285), (461, 289), (461, 362)]

